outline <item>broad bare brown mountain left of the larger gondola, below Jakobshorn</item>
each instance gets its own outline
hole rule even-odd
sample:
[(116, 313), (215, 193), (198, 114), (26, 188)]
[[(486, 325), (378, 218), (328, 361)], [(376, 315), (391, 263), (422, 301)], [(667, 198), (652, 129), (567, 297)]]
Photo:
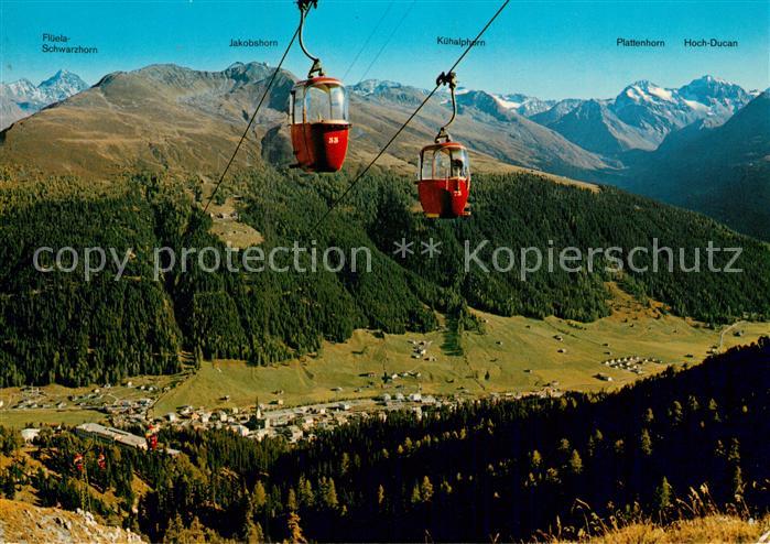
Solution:
[[(212, 174), (232, 153), (271, 74), (260, 63), (221, 72), (173, 64), (116, 72), (4, 130), (0, 149), (8, 162), (87, 178), (138, 170)], [(275, 78), (256, 122), (260, 131), (285, 120), (272, 108), (283, 109), (292, 85), (285, 74)], [(236, 166), (258, 161), (259, 150), (245, 145)]]

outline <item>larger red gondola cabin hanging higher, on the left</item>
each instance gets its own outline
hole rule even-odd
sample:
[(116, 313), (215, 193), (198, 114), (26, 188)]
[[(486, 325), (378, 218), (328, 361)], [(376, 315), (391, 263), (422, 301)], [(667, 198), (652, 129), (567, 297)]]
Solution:
[(297, 166), (307, 172), (337, 172), (348, 149), (348, 97), (334, 77), (294, 85), (291, 96), (292, 146)]

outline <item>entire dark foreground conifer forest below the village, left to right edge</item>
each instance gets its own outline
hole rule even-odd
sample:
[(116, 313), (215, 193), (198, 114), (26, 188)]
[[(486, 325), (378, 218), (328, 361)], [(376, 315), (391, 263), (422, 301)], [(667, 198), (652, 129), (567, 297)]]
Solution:
[[(290, 448), (229, 431), (163, 431), (178, 457), (105, 447), (88, 456), (93, 511), (153, 542), (221, 536), (262, 542), (484, 542), (574, 538), (603, 523), (671, 520), (709, 508), (770, 508), (770, 339), (615, 393), (473, 401), (393, 412)], [(20, 438), (0, 433), (10, 455)], [(83, 504), (69, 433), (41, 434), (39, 458), (0, 471), (8, 498), (32, 486), (42, 505)], [(132, 475), (144, 488), (139, 512)], [(693, 492), (697, 497), (693, 497)]]

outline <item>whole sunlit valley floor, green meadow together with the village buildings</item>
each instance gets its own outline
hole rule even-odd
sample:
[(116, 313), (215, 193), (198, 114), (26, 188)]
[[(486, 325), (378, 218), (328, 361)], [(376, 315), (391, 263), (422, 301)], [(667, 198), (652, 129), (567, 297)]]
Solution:
[[(490, 319), (502, 322), (503, 318), (490, 316), (486, 319), (488, 326), (495, 325)], [(552, 326), (533, 323), (525, 320), (518, 329), (506, 331), (545, 336), (546, 327)], [(727, 330), (718, 335), (719, 344)], [(228, 429), (249, 439), (283, 437), (290, 444), (297, 444), (356, 421), (370, 417), (384, 421), (393, 411), (411, 411), (419, 418), (434, 417), (443, 407), (480, 399), (547, 398), (561, 396), (563, 390), (618, 388), (652, 376), (671, 363), (636, 353), (612, 356), (617, 352), (615, 342), (610, 347), (608, 341), (590, 339), (589, 345), (595, 346), (592, 355), (579, 363), (570, 363), (575, 367), (572, 374), (550, 371), (547, 367), (561, 368), (563, 358), (573, 357), (575, 350), (582, 349), (581, 342), (586, 340), (578, 338), (581, 334), (586, 333), (563, 328), (558, 334), (549, 334), (549, 349), (557, 362), (538, 363), (531, 358), (532, 362), (512, 363), (508, 374), (490, 376), (490, 369), (499, 368), (500, 355), (511, 349), (509, 346), (516, 338), (512, 335), (479, 336), (475, 341), (484, 344), (470, 346), (473, 358), (447, 358), (436, 342), (441, 338), (437, 334), (393, 335), (379, 340), (381, 347), (372, 350), (366, 346), (375, 337), (367, 334), (350, 345), (330, 346), (324, 358), (312, 363), (313, 372), (308, 370), (311, 362), (304, 359), (264, 368), (212, 361), (180, 374), (127, 378), (120, 383), (99, 387), (9, 388), (0, 394), (0, 411), (4, 421), (23, 429), (26, 442), (33, 442), (46, 426), (75, 427), (78, 435), (95, 440), (143, 450), (158, 447), (175, 455), (167, 445), (158, 444), (162, 428)], [(742, 329), (734, 336), (739, 341)], [(701, 349), (705, 350), (708, 345), (704, 344), (711, 337), (698, 340)], [(718, 348), (711, 345), (708, 353)], [(687, 363), (691, 357), (683, 353), (676, 362)], [(344, 361), (349, 367), (343, 367)], [(332, 365), (334, 373), (326, 370), (327, 365)], [(296, 390), (297, 374), (292, 372), (311, 377), (315, 388), (312, 394)], [(265, 377), (270, 376), (273, 377), (270, 383), (278, 383), (280, 389), (269, 389)], [(511, 381), (511, 376), (519, 378)], [(575, 388), (576, 383), (588, 385)], [(135, 434), (142, 432), (139, 429), (143, 429), (143, 435)]]

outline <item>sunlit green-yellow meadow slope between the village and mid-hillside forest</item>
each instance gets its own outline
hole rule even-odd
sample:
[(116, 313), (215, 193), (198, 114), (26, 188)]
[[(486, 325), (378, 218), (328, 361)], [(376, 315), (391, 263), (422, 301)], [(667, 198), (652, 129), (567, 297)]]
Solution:
[[(661, 359), (666, 365), (692, 363), (703, 360), (711, 347), (719, 344), (720, 337), (718, 330), (661, 315), (655, 308), (643, 308), (629, 297), (619, 297), (611, 316), (590, 324), (555, 317), (539, 320), (477, 314), (487, 322), (486, 334), (466, 333), (462, 356), (453, 353), (445, 344), (446, 334), (441, 331), (387, 335), (380, 339), (369, 331), (357, 330), (346, 342), (325, 342), (317, 357), (273, 367), (250, 367), (241, 361), (204, 362), (196, 374), (161, 396), (155, 414), (185, 404), (243, 406), (254, 404), (258, 398), (259, 402), (267, 403), (279, 399), (274, 394), (279, 390), (283, 391), (280, 398), (286, 404), (301, 404), (386, 392), (451, 394), (462, 388), (467, 388), (471, 394), (524, 392), (542, 389), (553, 380), (558, 381), (561, 389), (617, 388), (633, 381), (637, 374), (607, 368), (601, 361), (639, 355)], [(738, 338), (727, 331), (724, 349), (770, 334), (768, 323), (746, 323), (736, 328), (744, 330), (744, 336)], [(554, 339), (556, 335), (562, 336), (563, 341)], [(410, 340), (432, 341), (427, 356), (436, 360), (413, 359)], [(609, 346), (605, 347), (605, 342)], [(558, 353), (560, 348), (566, 352)], [(694, 357), (687, 358), (688, 353)], [(644, 366), (648, 374), (664, 368), (665, 365)], [(531, 372), (524, 372), (525, 369)], [(422, 376), (420, 379), (400, 378), (383, 387), (383, 370), (388, 373), (417, 371)], [(487, 371), (489, 380), (485, 380)], [(361, 376), (368, 372), (375, 376)], [(597, 372), (611, 376), (614, 381), (597, 380), (594, 378)], [(403, 388), (397, 389), (398, 385)], [(334, 388), (343, 388), (343, 391), (333, 391)], [(230, 399), (224, 401), (225, 395)]]

